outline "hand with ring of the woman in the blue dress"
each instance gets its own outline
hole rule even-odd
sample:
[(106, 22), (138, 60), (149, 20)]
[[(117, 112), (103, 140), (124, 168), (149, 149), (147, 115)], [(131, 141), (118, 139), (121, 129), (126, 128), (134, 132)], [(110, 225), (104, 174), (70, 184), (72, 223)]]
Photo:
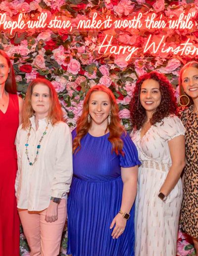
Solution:
[(127, 224), (127, 220), (124, 219), (120, 213), (118, 213), (110, 225), (110, 229), (112, 229), (113, 226), (115, 225), (113, 232), (111, 234), (113, 239), (115, 239), (115, 238), (117, 239), (120, 235), (122, 235), (122, 233), (124, 232), (124, 229), (126, 227), (126, 224)]

